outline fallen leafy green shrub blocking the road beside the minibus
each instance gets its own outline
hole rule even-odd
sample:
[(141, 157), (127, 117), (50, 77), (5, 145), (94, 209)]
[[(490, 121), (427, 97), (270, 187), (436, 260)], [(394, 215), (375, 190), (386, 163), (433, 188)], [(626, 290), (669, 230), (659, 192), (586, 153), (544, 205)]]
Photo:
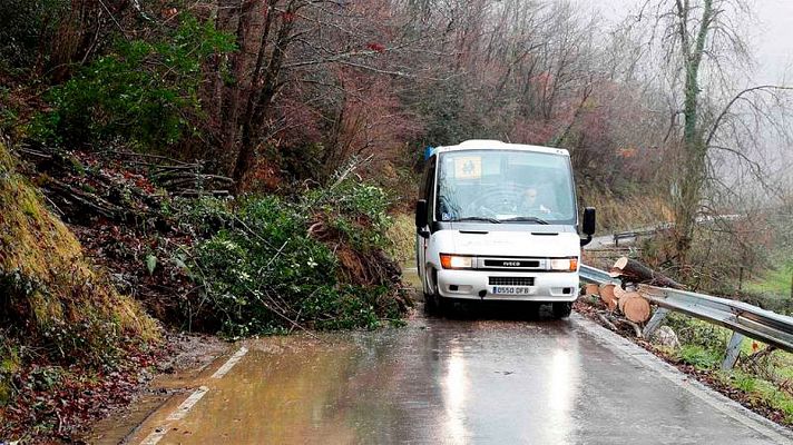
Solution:
[(231, 337), (399, 318), (399, 269), (382, 253), (386, 207), (382, 190), (352, 181), (296, 202), (248, 197), (232, 209), (206, 199), (195, 211), (219, 228), (195, 248), (200, 298), (190, 300), (189, 316), (213, 319)]

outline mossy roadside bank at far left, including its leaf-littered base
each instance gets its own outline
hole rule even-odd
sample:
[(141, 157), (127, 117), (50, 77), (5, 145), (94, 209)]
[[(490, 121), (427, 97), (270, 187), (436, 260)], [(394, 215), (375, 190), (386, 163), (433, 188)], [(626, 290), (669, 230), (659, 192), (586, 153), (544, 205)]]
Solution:
[[(45, 206), (0, 144), (0, 434), (68, 435), (118, 403), (109, 375), (148, 366), (160, 328)], [(104, 388), (102, 399), (85, 392)]]

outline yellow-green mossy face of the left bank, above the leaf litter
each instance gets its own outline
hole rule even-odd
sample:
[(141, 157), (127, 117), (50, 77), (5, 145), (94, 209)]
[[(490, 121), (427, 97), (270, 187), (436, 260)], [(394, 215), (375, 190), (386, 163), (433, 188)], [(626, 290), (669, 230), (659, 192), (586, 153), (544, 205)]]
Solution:
[(77, 238), (0, 145), (0, 323), (55, 358), (101, 360), (157, 324), (84, 257)]

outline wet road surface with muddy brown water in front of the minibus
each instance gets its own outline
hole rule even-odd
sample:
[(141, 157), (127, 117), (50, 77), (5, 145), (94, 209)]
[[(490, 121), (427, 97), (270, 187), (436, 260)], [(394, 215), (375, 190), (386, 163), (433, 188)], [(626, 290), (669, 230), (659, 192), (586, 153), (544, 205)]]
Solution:
[(202, 396), (192, 409), (179, 414), (189, 393), (170, 400), (128, 442), (787, 441), (785, 431), (727, 406), (643, 349), (577, 316), (420, 317), (403, 328), (324, 335), (320, 340), (265, 338), (244, 347), (247, 354), (238, 353), (238, 363), (221, 378), (196, 382)]

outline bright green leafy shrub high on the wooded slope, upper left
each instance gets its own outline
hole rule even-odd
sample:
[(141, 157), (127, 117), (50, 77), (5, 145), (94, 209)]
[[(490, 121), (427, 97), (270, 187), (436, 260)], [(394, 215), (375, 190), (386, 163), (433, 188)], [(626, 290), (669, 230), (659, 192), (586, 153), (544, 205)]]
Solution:
[(79, 144), (125, 138), (156, 150), (194, 131), (200, 113), (202, 66), (234, 49), (212, 20), (182, 16), (159, 39), (119, 39), (112, 50), (50, 90), (53, 111), (39, 115), (39, 139)]

